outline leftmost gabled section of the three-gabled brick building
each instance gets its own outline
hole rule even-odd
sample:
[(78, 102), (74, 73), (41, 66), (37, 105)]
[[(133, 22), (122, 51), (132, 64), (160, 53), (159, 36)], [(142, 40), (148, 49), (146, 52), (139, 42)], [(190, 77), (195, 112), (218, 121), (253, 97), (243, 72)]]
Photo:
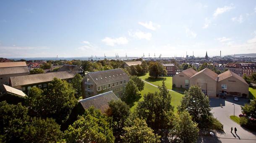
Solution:
[(193, 70), (193, 68), (189, 68), (186, 70), (183, 70), (177, 75), (174, 75), (172, 77), (172, 83), (177, 88), (189, 88), (189, 78), (191, 78), (194, 74), (196, 74), (197, 71)]

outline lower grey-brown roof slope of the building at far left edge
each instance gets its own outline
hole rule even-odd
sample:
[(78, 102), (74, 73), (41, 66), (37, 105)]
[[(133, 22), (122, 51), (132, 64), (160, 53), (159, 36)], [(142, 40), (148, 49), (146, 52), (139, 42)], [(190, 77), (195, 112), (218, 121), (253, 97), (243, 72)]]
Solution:
[(0, 75), (8, 75), (15, 73), (29, 73), (29, 69), (27, 66), (0, 68)]

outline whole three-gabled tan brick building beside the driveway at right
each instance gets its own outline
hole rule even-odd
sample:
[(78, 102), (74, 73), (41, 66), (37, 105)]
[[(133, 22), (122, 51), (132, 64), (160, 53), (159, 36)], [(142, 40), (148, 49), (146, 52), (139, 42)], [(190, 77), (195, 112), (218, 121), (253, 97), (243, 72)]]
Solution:
[(199, 72), (187, 69), (172, 78), (176, 87), (191, 87), (198, 85), (205, 95), (216, 97), (219, 93), (248, 98), (249, 85), (238, 74), (227, 70), (217, 75), (212, 70), (205, 68)]

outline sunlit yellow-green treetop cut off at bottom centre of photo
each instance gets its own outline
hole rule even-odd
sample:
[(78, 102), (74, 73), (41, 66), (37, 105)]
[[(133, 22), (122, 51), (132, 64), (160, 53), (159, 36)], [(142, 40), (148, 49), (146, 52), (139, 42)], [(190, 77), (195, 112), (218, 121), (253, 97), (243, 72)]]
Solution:
[(131, 127), (124, 127), (125, 134), (121, 136), (125, 143), (160, 143), (161, 136), (154, 134), (143, 119), (136, 118)]

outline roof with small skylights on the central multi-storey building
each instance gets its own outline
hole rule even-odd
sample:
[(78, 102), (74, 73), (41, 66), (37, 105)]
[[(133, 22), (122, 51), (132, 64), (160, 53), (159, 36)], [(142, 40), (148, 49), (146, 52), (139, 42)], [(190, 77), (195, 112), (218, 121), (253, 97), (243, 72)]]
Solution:
[(110, 83), (116, 80), (123, 80), (129, 78), (129, 76), (120, 68), (113, 70), (103, 70), (97, 72), (91, 72), (87, 74), (92, 78), (96, 85)]

